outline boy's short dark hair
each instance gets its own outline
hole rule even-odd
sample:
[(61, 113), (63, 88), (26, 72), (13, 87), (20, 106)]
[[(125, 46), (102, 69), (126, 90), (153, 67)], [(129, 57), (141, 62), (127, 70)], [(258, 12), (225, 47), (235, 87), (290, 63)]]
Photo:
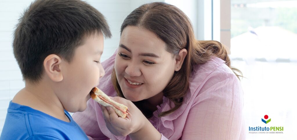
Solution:
[(24, 11), (14, 32), (13, 52), (24, 80), (38, 82), (43, 61), (56, 54), (71, 62), (87, 36), (111, 33), (105, 17), (80, 0), (36, 0)]

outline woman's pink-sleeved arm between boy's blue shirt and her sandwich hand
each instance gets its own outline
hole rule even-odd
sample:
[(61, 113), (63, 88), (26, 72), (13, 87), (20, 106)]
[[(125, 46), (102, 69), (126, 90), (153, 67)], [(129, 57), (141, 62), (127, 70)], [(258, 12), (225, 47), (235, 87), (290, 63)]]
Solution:
[(89, 100), (86, 110), (74, 113), (72, 118), (83, 129), (90, 140), (109, 140), (109, 138), (105, 136), (99, 128), (96, 111), (91, 106), (93, 103), (94, 102), (92, 102), (92, 100)]

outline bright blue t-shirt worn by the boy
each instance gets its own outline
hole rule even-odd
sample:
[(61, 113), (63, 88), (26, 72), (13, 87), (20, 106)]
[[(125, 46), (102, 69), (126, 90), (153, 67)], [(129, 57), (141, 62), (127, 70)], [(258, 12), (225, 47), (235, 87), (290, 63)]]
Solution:
[(86, 133), (64, 110), (70, 122), (10, 101), (0, 140), (88, 139)]

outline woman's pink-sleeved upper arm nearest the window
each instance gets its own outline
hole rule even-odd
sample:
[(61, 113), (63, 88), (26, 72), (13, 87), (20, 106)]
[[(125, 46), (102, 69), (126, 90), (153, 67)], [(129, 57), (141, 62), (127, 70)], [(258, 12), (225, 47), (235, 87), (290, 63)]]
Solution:
[(244, 139), (242, 108), (243, 91), (235, 75), (208, 79), (189, 111), (182, 139)]

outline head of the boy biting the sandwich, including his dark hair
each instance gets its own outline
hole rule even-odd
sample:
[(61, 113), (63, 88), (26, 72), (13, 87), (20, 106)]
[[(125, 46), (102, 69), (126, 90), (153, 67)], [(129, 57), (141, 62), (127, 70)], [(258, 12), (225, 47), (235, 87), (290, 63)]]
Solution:
[(103, 35), (111, 37), (104, 16), (86, 2), (36, 0), (19, 19), (13, 51), (26, 82), (47, 81), (67, 111), (82, 111), (73, 104), (86, 106), (78, 100), (104, 75)]

